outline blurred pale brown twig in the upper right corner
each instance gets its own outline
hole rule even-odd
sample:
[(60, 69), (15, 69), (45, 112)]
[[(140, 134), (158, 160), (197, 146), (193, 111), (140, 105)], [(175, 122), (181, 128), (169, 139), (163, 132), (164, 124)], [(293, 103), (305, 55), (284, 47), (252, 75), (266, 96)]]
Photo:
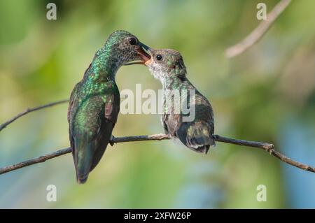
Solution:
[(248, 48), (257, 43), (272, 26), (274, 21), (276, 21), (276, 18), (279, 17), (284, 9), (286, 9), (290, 1), (291, 0), (281, 0), (277, 3), (272, 11), (267, 14), (267, 20), (262, 20), (258, 27), (256, 27), (251, 34), (246, 36), (243, 41), (225, 50), (225, 57), (231, 58), (240, 55), (242, 52), (245, 52)]

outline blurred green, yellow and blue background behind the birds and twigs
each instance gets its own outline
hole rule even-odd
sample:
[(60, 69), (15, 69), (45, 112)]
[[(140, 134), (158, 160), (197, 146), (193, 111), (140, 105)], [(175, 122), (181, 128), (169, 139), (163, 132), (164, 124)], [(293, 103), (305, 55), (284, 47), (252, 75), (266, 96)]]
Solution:
[[(225, 49), (260, 21), (261, 1), (0, 1), (0, 122), (67, 99), (116, 29), (153, 48), (179, 50), (188, 78), (214, 107), (216, 134), (274, 143), (315, 165), (315, 1), (293, 1), (262, 40), (233, 59)], [(278, 1), (263, 1), (269, 12)], [(118, 87), (161, 88), (144, 66), (118, 71)], [(69, 146), (67, 104), (0, 132), (0, 166)], [(160, 115), (122, 115), (115, 136), (158, 134)], [(46, 201), (47, 185), (57, 201)], [(267, 201), (258, 202), (258, 185)], [(1, 208), (315, 208), (315, 175), (262, 150), (217, 143), (209, 154), (173, 141), (109, 146), (85, 185), (70, 154), (0, 175)]]

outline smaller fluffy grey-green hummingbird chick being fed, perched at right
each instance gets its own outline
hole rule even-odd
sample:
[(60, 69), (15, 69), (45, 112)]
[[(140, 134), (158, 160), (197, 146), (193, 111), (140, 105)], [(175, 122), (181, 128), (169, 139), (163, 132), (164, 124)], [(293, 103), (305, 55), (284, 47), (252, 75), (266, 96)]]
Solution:
[[(145, 48), (151, 55), (145, 65), (154, 78), (160, 80), (163, 88), (162, 124), (165, 133), (179, 138), (181, 143), (195, 152), (207, 154), (214, 140), (214, 112), (208, 99), (203, 96), (187, 78), (183, 57), (176, 50), (153, 50)], [(174, 92), (180, 99), (174, 99)], [(190, 92), (194, 94), (191, 95)], [(169, 101), (174, 103), (168, 103)], [(185, 119), (183, 103), (193, 108), (195, 116)], [(177, 108), (177, 112), (176, 112)], [(191, 113), (191, 112), (190, 112)]]

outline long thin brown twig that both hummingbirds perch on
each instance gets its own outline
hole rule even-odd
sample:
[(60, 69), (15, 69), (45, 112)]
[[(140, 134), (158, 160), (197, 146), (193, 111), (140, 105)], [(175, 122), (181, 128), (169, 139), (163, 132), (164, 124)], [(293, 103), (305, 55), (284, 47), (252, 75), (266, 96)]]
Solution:
[[(230, 144), (235, 144), (235, 145), (244, 145), (244, 146), (249, 146), (249, 147), (253, 147), (253, 148), (260, 148), (260, 149), (265, 150), (265, 151), (269, 152), (270, 154), (274, 155), (274, 157), (277, 157), (278, 159), (285, 162), (286, 164), (290, 164), (290, 165), (295, 166), (297, 168), (301, 168), (305, 171), (310, 171), (310, 172), (315, 173), (314, 167), (302, 164), (300, 162), (294, 161), (294, 160), (284, 156), (280, 152), (277, 152), (276, 150), (274, 150), (273, 144), (260, 143), (260, 142), (255, 142), (255, 141), (245, 141), (245, 140), (239, 140), (239, 139), (234, 139), (234, 138), (226, 138), (226, 137), (218, 136), (218, 135), (214, 135), (214, 138), (217, 142), (230, 143)], [(171, 139), (171, 138), (165, 134), (155, 134), (155, 135), (148, 135), (148, 136), (126, 136), (126, 137), (117, 137), (117, 138), (113, 137), (113, 139), (111, 141), (111, 145), (113, 145), (114, 143), (125, 143), (125, 142), (135, 142), (135, 141), (161, 141), (161, 140), (167, 140), (167, 139)], [(63, 154), (69, 153), (69, 152), (71, 152), (71, 148), (65, 148), (62, 150), (58, 150), (56, 152), (46, 154), (46, 155), (41, 156), (41, 157), (37, 157), (35, 159), (29, 159), (27, 161), (23, 161), (19, 164), (14, 164), (14, 165), (0, 168), (0, 175), (3, 173), (8, 173), (10, 171), (17, 170), (19, 168), (23, 168), (25, 166), (38, 164), (38, 163), (44, 162), (48, 159), (59, 157)]]

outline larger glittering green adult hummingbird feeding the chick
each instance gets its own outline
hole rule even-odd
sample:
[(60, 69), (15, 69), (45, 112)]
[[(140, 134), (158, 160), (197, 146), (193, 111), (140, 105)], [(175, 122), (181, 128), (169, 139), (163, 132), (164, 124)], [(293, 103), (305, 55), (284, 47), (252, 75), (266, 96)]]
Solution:
[(116, 72), (123, 65), (144, 64), (146, 45), (127, 31), (114, 31), (98, 50), (71, 92), (68, 122), (76, 179), (84, 183), (111, 140), (120, 109)]

